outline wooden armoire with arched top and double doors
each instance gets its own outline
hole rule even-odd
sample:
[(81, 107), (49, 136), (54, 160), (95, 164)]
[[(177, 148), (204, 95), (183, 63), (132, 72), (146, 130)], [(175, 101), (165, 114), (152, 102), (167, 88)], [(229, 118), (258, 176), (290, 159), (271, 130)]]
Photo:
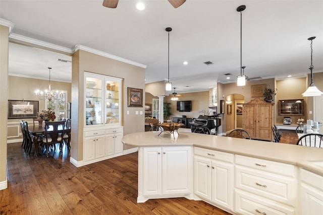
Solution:
[(252, 139), (273, 141), (274, 116), (274, 103), (265, 102), (259, 97), (254, 98), (243, 104), (243, 129)]

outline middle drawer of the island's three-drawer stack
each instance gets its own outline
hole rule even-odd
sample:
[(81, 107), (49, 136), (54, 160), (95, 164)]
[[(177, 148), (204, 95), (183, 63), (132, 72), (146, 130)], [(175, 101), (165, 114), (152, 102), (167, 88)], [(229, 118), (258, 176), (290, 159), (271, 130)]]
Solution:
[(236, 166), (236, 187), (266, 198), (295, 205), (294, 178)]

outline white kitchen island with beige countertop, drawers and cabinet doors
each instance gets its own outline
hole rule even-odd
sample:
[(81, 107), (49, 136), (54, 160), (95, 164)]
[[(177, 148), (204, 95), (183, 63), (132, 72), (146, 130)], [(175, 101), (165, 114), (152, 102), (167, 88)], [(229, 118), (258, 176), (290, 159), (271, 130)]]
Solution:
[(175, 132), (175, 138), (158, 134), (122, 138), (138, 147), (138, 202), (186, 197), (233, 214), (323, 211), (323, 149), (188, 132)]

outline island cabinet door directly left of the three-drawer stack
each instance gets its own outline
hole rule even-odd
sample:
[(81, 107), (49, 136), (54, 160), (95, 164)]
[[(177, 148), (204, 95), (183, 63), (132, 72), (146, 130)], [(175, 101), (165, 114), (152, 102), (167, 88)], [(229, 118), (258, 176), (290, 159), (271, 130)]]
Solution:
[(233, 208), (233, 164), (212, 161), (212, 201), (224, 207)]

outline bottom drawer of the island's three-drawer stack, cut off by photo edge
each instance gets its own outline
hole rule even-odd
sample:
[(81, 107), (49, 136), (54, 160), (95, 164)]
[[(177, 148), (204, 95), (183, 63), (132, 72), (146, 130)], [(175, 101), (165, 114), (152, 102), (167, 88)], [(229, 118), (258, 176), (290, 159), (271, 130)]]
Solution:
[(235, 209), (240, 214), (289, 214), (295, 213), (294, 208), (279, 204), (270, 199), (236, 190)]

